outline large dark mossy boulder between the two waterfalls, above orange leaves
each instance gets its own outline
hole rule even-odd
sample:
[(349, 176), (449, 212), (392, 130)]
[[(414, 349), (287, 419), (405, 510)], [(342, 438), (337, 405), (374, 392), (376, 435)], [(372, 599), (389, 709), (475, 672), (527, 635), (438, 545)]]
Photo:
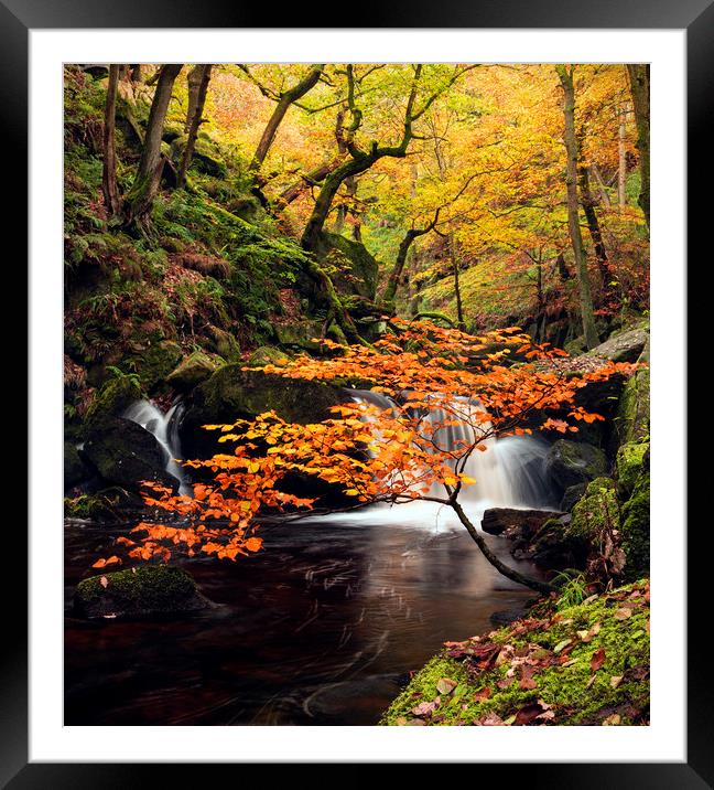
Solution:
[(203, 425), (252, 419), (271, 409), (292, 423), (320, 423), (333, 416), (331, 406), (347, 399), (344, 391), (329, 384), (242, 367), (242, 364), (224, 365), (192, 392), (180, 426), (186, 458), (225, 452), (226, 445), (218, 444), (215, 431), (205, 430)]

